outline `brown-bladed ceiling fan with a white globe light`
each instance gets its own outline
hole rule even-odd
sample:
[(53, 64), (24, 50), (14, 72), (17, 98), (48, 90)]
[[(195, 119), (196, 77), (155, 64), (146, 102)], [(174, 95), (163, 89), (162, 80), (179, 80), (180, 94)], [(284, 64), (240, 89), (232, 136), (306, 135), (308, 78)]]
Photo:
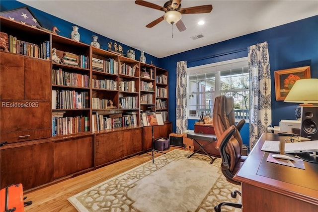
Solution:
[(163, 7), (144, 0), (136, 0), (135, 3), (165, 12), (164, 15), (149, 23), (146, 27), (151, 28), (162, 20), (166, 20), (169, 24), (175, 24), (180, 32), (187, 29), (181, 20), (182, 14), (209, 13), (212, 11), (212, 4), (181, 8), (181, 0), (168, 0)]

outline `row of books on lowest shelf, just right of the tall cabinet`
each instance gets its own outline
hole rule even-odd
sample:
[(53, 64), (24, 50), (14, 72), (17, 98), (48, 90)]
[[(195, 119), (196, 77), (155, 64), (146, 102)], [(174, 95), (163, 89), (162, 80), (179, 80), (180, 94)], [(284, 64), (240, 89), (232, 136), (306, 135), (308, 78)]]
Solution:
[(52, 136), (67, 135), (88, 131), (88, 117), (53, 117), (52, 113)]

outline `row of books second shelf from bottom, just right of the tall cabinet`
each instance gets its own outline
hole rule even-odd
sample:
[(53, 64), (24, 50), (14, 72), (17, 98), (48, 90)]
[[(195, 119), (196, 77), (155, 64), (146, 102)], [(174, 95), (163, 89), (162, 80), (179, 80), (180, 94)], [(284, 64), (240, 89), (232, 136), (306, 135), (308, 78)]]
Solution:
[(89, 108), (88, 92), (52, 90), (52, 109)]

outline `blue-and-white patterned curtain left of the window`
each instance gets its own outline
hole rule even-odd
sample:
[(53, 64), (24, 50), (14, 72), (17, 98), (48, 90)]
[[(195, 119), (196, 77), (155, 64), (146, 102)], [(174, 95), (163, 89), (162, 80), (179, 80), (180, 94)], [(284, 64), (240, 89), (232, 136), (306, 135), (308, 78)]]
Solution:
[(177, 62), (176, 75), (176, 111), (175, 111), (175, 133), (182, 134), (188, 129), (187, 120), (187, 61)]

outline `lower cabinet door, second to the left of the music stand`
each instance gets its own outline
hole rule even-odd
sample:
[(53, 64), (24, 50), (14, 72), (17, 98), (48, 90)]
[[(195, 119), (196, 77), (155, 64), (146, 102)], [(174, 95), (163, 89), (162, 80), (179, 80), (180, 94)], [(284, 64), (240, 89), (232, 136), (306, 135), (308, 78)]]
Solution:
[(123, 131), (115, 131), (96, 135), (96, 166), (104, 165), (125, 156), (123, 134)]

